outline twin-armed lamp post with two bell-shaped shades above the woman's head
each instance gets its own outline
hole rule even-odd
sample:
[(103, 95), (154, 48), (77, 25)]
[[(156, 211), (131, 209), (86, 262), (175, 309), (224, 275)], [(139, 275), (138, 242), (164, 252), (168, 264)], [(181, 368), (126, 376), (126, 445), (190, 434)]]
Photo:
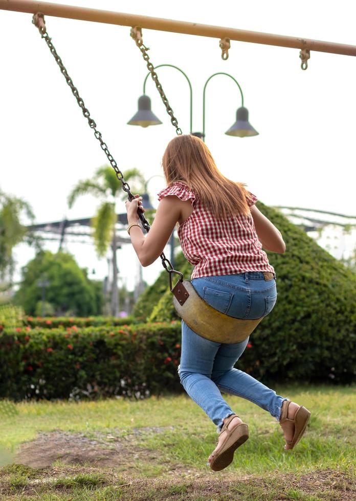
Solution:
[[(225, 132), (227, 135), (239, 137), (239, 138), (246, 138), (248, 136), (253, 136), (257, 135), (258, 132), (252, 127), (252, 125), (249, 122), (249, 111), (246, 107), (243, 106), (243, 94), (242, 94), (242, 89), (238, 83), (238, 81), (229, 73), (214, 73), (211, 75), (208, 80), (205, 82), (204, 89), (203, 89), (203, 132), (192, 132), (192, 123), (193, 123), (193, 91), (192, 91), (192, 85), (190, 83), (190, 80), (186, 73), (184, 73), (183, 70), (181, 70), (178, 66), (174, 66), (173, 64), (159, 64), (158, 66), (155, 66), (155, 70), (157, 68), (163, 67), (163, 66), (168, 66), (171, 68), (174, 68), (175, 70), (180, 71), (186, 78), (188, 84), (189, 84), (189, 90), (190, 90), (190, 133), (192, 135), (197, 136), (198, 138), (201, 138), (203, 141), (205, 139), (205, 92), (206, 92), (206, 87), (208, 82), (215, 77), (216, 75), (226, 75), (237, 84), (239, 90), (240, 90), (240, 95), (241, 95), (241, 107), (237, 109), (236, 111), (236, 122)], [(148, 73), (145, 77), (144, 83), (143, 83), (143, 96), (139, 98), (139, 110), (137, 113), (131, 118), (131, 120), (128, 123), (128, 125), (140, 125), (141, 127), (148, 127), (149, 125), (160, 125), (162, 122), (152, 113), (151, 111), (151, 100), (150, 98), (146, 95), (146, 82), (147, 78), (149, 77), (150, 73)]]

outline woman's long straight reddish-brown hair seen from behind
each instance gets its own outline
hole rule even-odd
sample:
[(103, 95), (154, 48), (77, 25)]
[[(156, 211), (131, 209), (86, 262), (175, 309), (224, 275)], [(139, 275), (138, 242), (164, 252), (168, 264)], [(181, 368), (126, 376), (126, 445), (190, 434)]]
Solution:
[(172, 139), (163, 154), (167, 186), (183, 181), (216, 218), (250, 214), (246, 185), (221, 174), (206, 144), (190, 134)]

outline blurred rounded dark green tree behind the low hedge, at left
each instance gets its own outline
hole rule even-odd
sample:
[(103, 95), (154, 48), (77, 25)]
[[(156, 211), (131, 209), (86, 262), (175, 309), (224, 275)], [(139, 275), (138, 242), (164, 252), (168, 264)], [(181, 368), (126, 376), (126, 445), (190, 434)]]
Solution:
[[(40, 313), (43, 300), (46, 310), (54, 311), (56, 315), (101, 314), (103, 294), (100, 284), (87, 278), (86, 269), (81, 269), (71, 254), (52, 254), (49, 250), (42, 250), (27, 263), (22, 274), (14, 301), (23, 306), (27, 314)], [(47, 284), (45, 297), (42, 295), (43, 282)]]

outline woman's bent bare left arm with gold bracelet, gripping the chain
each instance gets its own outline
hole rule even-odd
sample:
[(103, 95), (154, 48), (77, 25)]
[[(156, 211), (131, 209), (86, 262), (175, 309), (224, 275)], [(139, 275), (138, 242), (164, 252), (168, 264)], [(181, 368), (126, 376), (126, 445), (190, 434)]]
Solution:
[[(128, 224), (139, 220), (137, 210), (141, 207), (140, 203), (140, 198), (126, 202)], [(175, 195), (163, 197), (146, 237), (143, 235), (141, 227), (131, 227), (131, 243), (142, 266), (149, 266), (162, 254), (176, 222), (181, 217), (182, 204), (185, 203)]]

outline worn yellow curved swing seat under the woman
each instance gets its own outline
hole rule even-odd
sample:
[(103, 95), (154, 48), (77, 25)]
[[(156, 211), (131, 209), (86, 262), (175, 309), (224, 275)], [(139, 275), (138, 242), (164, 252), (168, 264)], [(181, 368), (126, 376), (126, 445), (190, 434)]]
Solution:
[[(183, 287), (182, 287), (183, 286)], [(172, 303), (177, 314), (199, 336), (215, 343), (241, 343), (263, 319), (242, 320), (216, 310), (196, 292), (189, 280), (174, 286)]]

